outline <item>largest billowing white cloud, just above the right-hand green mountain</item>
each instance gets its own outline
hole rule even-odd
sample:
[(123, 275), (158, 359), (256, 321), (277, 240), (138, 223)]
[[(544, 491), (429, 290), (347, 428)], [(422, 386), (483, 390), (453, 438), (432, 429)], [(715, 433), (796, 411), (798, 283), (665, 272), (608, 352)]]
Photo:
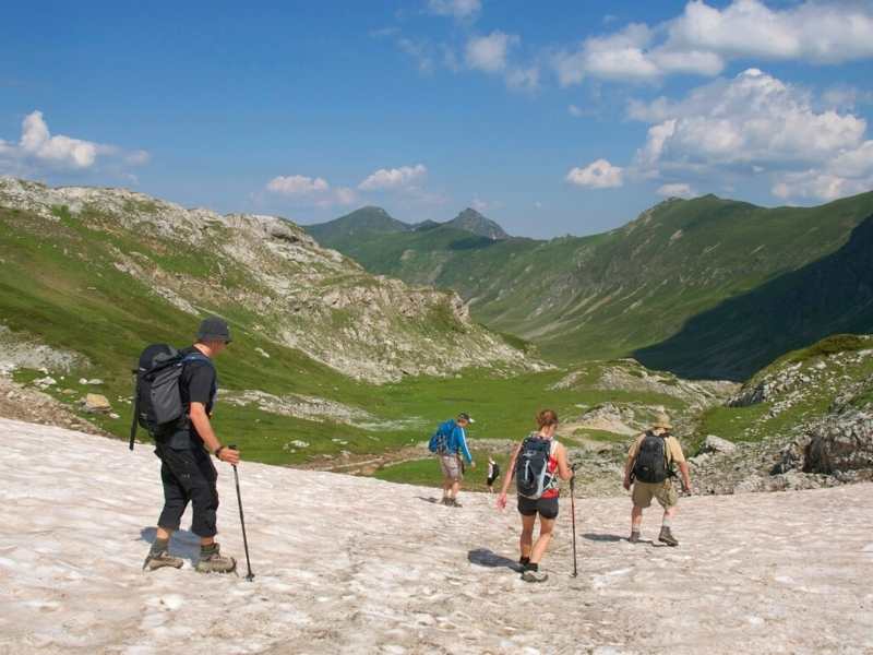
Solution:
[(758, 69), (699, 86), (680, 100), (632, 103), (630, 117), (650, 123), (633, 174), (769, 171), (779, 198), (832, 200), (873, 187), (866, 121), (820, 105), (810, 92)]

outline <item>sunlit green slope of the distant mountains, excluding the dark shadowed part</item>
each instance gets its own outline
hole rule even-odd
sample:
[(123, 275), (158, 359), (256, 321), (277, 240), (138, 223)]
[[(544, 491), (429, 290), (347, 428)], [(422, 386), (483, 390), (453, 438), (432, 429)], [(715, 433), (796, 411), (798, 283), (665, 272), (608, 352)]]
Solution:
[[(371, 272), (455, 289), (486, 325), (567, 361), (658, 344), (692, 317), (833, 253), (871, 214), (873, 192), (773, 210), (706, 195), (665, 201), (593, 237), (494, 242), (440, 227), (331, 246)], [(720, 370), (723, 358), (704, 353), (699, 365)]]

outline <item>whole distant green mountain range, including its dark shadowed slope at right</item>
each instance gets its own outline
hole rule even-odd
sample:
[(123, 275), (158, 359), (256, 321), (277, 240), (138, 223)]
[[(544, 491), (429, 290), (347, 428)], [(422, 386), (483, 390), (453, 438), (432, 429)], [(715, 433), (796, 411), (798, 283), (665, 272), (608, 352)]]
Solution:
[(374, 209), (307, 229), (371, 273), (456, 290), (555, 361), (635, 355), (740, 380), (832, 331), (873, 331), (873, 241), (859, 227), (873, 192), (817, 207), (670, 199), (609, 233), (549, 241), (495, 238), (473, 210), (418, 226), (382, 212), (356, 231), (360, 212)]

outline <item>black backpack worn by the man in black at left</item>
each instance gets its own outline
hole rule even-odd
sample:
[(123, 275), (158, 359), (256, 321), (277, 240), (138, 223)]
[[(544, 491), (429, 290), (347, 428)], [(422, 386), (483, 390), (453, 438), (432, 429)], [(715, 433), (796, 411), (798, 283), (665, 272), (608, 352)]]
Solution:
[(140, 355), (139, 366), (133, 369), (136, 386), (133, 392), (130, 450), (133, 450), (137, 427), (156, 438), (187, 422), (179, 378), (188, 361), (205, 361), (212, 366), (210, 358), (202, 353), (183, 355), (167, 344), (152, 344)]

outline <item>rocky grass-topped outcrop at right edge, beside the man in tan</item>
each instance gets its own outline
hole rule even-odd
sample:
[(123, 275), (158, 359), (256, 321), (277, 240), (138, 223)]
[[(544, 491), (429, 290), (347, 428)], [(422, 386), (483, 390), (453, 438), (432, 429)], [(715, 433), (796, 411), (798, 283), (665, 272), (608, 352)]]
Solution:
[[(728, 401), (732, 448), (692, 460), (705, 491), (873, 479), (873, 337), (836, 336), (789, 355)], [(708, 440), (707, 440), (708, 441)]]

